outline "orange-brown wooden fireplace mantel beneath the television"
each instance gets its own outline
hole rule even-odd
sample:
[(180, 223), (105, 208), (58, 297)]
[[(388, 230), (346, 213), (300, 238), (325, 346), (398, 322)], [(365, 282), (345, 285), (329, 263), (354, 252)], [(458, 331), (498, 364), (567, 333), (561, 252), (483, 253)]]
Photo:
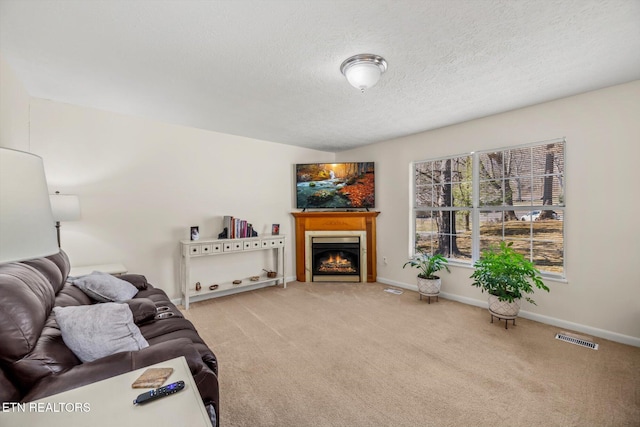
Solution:
[(376, 272), (376, 217), (380, 212), (291, 212), (296, 220), (296, 279), (304, 282), (305, 232), (313, 231), (366, 231), (367, 282), (375, 282)]

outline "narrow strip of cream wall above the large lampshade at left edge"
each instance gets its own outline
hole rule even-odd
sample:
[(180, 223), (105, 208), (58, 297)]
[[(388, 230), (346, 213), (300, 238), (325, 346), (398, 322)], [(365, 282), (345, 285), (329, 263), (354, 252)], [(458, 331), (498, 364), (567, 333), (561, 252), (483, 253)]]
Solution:
[(0, 147), (29, 151), (29, 94), (0, 56)]

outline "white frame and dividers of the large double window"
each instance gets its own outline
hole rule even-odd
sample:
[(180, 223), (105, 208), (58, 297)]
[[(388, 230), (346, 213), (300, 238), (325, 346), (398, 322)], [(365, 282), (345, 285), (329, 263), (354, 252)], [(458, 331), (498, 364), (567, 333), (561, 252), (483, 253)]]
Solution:
[[(480, 182), (482, 181), (481, 177), (480, 177), (480, 158), (483, 154), (487, 154), (487, 153), (505, 153), (508, 151), (513, 151), (513, 150), (520, 150), (523, 148), (532, 148), (532, 147), (544, 147), (550, 144), (562, 144), (562, 165), (563, 168), (561, 171), (558, 172), (558, 174), (553, 174), (553, 176), (558, 175), (561, 177), (562, 182), (560, 183), (561, 186), (561, 199), (560, 199), (560, 195), (558, 196), (558, 203), (557, 204), (551, 204), (551, 205), (543, 205), (543, 204), (529, 204), (529, 205), (516, 205), (515, 202), (511, 202), (511, 205), (505, 205), (504, 204), (504, 200), (503, 200), (503, 204), (502, 205), (480, 205)], [(417, 220), (418, 220), (418, 213), (419, 212), (439, 212), (439, 211), (466, 211), (466, 210), (470, 210), (471, 211), (471, 259), (469, 261), (465, 261), (461, 258), (452, 258), (452, 257), (447, 257), (447, 259), (449, 260), (451, 265), (459, 265), (459, 266), (473, 266), (473, 264), (480, 258), (480, 252), (481, 252), (481, 235), (480, 235), (480, 217), (481, 214), (483, 212), (508, 212), (508, 211), (522, 211), (522, 210), (527, 210), (527, 211), (548, 211), (548, 210), (552, 210), (552, 211), (556, 211), (556, 212), (560, 212), (562, 215), (562, 242), (561, 242), (561, 246), (562, 246), (562, 272), (554, 272), (554, 271), (549, 271), (549, 270), (540, 270), (542, 275), (546, 278), (549, 279), (556, 279), (556, 280), (566, 280), (567, 277), (567, 270), (566, 270), (566, 259), (567, 259), (567, 249), (566, 249), (566, 244), (565, 244), (565, 233), (566, 233), (566, 178), (567, 178), (567, 174), (566, 174), (566, 167), (567, 167), (567, 159), (566, 159), (566, 138), (561, 137), (561, 138), (554, 138), (554, 139), (550, 139), (550, 140), (546, 140), (546, 141), (536, 141), (536, 142), (531, 142), (531, 143), (527, 143), (527, 144), (520, 144), (520, 145), (512, 145), (512, 146), (507, 146), (507, 147), (501, 147), (501, 148), (496, 148), (496, 149), (487, 149), (487, 150), (481, 150), (481, 151), (473, 151), (473, 152), (468, 152), (468, 153), (461, 153), (461, 154), (457, 154), (457, 155), (450, 155), (450, 156), (443, 156), (443, 157), (437, 157), (437, 158), (432, 158), (432, 159), (426, 159), (426, 160), (418, 160), (418, 161), (412, 161), (409, 165), (409, 174), (410, 174), (410, 180), (411, 180), (411, 185), (410, 185), (410, 224), (411, 226), (409, 227), (409, 256), (414, 256), (416, 253), (416, 244), (418, 243), (416, 240), (416, 233), (417, 233)], [(533, 179), (534, 178), (544, 178), (545, 176), (548, 176), (548, 174), (535, 174), (534, 173), (534, 157), (533, 157), (533, 150), (532, 150), (532, 157), (531, 157), (531, 171), (530, 171), (530, 177), (532, 178), (532, 183), (533, 183)], [(503, 154), (502, 154), (503, 155)], [(441, 206), (418, 206), (418, 183), (417, 183), (417, 176), (416, 176), (416, 168), (419, 164), (424, 164), (424, 163), (435, 163), (435, 162), (439, 162), (442, 160), (449, 160), (449, 159), (458, 159), (461, 157), (470, 157), (471, 158), (471, 207), (460, 207), (460, 206), (445, 206), (445, 207), (441, 207)], [(486, 181), (486, 179), (485, 179)], [(433, 184), (432, 184), (433, 185)], [(452, 203), (453, 205), (453, 203)], [(506, 223), (504, 221), (504, 219), (501, 221), (501, 223), (503, 224), (503, 232), (502, 232), (502, 236), (501, 236), (501, 240), (503, 240), (505, 238), (505, 234), (504, 234), (504, 224)], [(529, 233), (529, 237), (528, 238), (518, 238), (516, 240), (520, 240), (520, 241), (528, 241), (528, 245), (530, 248), (530, 255), (529, 255), (529, 259), (531, 261), (535, 262), (534, 259), (534, 244), (536, 242), (540, 242), (539, 240), (537, 241), (535, 239), (535, 234), (534, 234), (534, 221), (530, 222), (531, 228), (530, 228), (530, 233)], [(540, 268), (540, 267), (538, 267)]]

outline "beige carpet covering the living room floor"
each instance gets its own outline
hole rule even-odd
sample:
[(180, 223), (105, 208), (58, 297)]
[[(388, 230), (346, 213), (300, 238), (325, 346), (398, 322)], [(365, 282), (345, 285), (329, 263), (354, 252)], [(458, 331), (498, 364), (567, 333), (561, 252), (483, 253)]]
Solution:
[(299, 283), (194, 303), (221, 424), (640, 426), (640, 348), (378, 283)]

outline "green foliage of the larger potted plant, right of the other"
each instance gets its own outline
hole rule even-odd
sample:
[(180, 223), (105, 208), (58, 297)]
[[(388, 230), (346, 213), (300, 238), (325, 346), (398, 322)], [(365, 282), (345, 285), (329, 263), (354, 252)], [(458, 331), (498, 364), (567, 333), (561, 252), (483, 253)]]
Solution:
[(475, 281), (472, 286), (487, 291), (498, 297), (500, 301), (513, 302), (515, 299), (524, 298), (531, 304), (535, 304), (531, 298), (523, 294), (532, 294), (534, 286), (549, 292), (549, 288), (543, 283), (540, 271), (533, 263), (522, 254), (516, 252), (512, 243), (500, 242), (500, 247), (495, 246), (482, 252), (480, 259), (473, 265), (475, 271), (471, 275)]

